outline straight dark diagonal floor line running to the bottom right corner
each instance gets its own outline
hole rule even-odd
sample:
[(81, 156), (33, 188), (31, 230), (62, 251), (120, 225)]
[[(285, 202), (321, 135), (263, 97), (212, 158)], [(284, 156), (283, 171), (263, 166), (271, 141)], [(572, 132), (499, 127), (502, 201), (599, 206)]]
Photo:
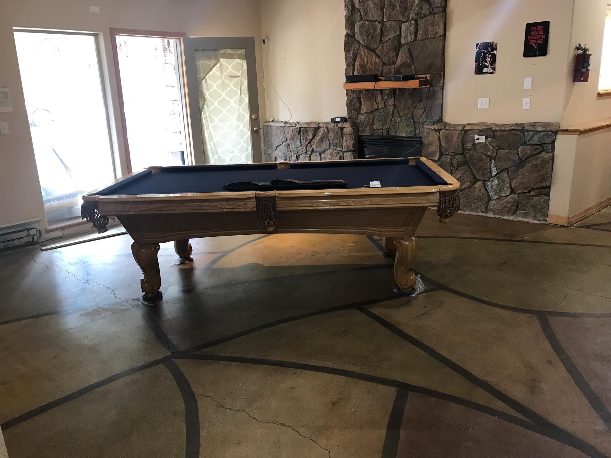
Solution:
[[(549, 431), (555, 431), (556, 434), (560, 434), (560, 437), (555, 437), (553, 435), (552, 436), (548, 435), (547, 437), (558, 440), (559, 442), (565, 443), (566, 445), (571, 445), (574, 448), (577, 448), (579, 451), (582, 451), (583, 453), (590, 454), (590, 456), (605, 456), (594, 446), (588, 444), (581, 438), (574, 436), (573, 434), (571, 434), (571, 432), (568, 432), (565, 429), (562, 429), (560, 426), (555, 425), (554, 423), (547, 420), (540, 414), (536, 413), (534, 410), (529, 409), (529, 407), (525, 406), (524, 404), (517, 401), (516, 399), (511, 398), (511, 396), (508, 396), (508, 394), (503, 393), (502, 391), (500, 391), (498, 388), (494, 387), (490, 383), (486, 382), (483, 379), (480, 379), (480, 377), (476, 376), (474, 373), (463, 368), (463, 366), (460, 366), (457, 363), (453, 362), (452, 360), (450, 360), (450, 358), (447, 358), (444, 355), (442, 355), (441, 353), (435, 351), (432, 347), (426, 345), (422, 341), (417, 340), (414, 336), (409, 335), (408, 333), (399, 329), (397, 326), (386, 321), (384, 318), (381, 318), (380, 316), (378, 316), (377, 314), (373, 313), (370, 310), (367, 310), (366, 308), (357, 308), (357, 310), (364, 313), (365, 315), (367, 315), (369, 318), (373, 319), (374, 321), (378, 322), (378, 324), (381, 324), (387, 330), (397, 335), (404, 341), (412, 344), (420, 351), (425, 352), (425, 354), (429, 355), (430, 357), (434, 358), (438, 362), (442, 363), (448, 369), (452, 369), (453, 371), (455, 371), (455, 373), (459, 374), (464, 379), (469, 380), (469, 382), (473, 383), (476, 387), (481, 388), (481, 390), (483, 391), (486, 391), (486, 393), (498, 399), (500, 402), (503, 402), (503, 404), (507, 405), (508, 407), (515, 410), (519, 414), (523, 415), (528, 420), (532, 421), (535, 424), (538, 424), (541, 427), (544, 427), (545, 429)], [(414, 391), (414, 390), (411, 390), (411, 391)], [(594, 454), (591, 454), (591, 453), (594, 453)]]

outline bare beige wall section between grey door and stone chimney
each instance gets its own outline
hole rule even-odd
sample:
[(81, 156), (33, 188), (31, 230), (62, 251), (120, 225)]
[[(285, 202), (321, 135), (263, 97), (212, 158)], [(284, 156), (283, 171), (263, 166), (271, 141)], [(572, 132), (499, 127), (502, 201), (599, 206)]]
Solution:
[(343, 0), (260, 0), (268, 38), (268, 118), (328, 122), (346, 115)]

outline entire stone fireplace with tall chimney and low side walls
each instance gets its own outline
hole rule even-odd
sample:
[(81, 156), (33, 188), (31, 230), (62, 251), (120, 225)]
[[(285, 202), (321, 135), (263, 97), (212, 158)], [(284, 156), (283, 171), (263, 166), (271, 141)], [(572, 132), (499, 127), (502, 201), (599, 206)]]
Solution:
[(445, 6), (345, 0), (345, 74), (426, 74), (430, 86), (347, 90), (348, 122), (339, 125), (265, 123), (266, 160), (354, 159), (359, 136), (422, 137), (422, 156), (461, 182), (465, 211), (546, 220), (559, 126), (444, 122)]

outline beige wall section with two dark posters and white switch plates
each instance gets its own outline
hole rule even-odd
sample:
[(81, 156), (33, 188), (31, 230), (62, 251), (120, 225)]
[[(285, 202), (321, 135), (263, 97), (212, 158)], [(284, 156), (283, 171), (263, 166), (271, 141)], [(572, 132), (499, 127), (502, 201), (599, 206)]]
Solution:
[[(573, 0), (448, 0), (444, 120), (467, 122), (559, 122), (565, 90), (568, 31)], [(551, 21), (548, 54), (524, 58), (524, 28)], [(475, 43), (498, 42), (497, 71), (474, 75)], [(533, 77), (533, 89), (524, 78)], [(479, 97), (490, 98), (478, 109)], [(530, 97), (531, 109), (522, 110)]]

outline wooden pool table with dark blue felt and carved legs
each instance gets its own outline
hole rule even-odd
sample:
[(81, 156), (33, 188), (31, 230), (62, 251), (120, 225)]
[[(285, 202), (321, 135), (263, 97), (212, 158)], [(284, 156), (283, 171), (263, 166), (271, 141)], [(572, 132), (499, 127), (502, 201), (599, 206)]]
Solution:
[[(274, 189), (274, 180), (299, 183)], [(316, 182), (300, 189), (311, 180)], [(224, 189), (236, 186), (240, 190)], [(192, 261), (189, 239), (236, 234), (384, 237), (395, 256), (398, 291), (409, 293), (416, 281), (409, 270), (417, 253), (415, 230), (430, 206), (437, 206), (440, 222), (456, 213), (458, 187), (425, 158), (148, 167), (83, 195), (81, 216), (100, 232), (109, 216), (119, 219), (134, 240), (142, 297), (151, 303), (161, 299), (160, 242), (174, 241), (177, 255)]]

